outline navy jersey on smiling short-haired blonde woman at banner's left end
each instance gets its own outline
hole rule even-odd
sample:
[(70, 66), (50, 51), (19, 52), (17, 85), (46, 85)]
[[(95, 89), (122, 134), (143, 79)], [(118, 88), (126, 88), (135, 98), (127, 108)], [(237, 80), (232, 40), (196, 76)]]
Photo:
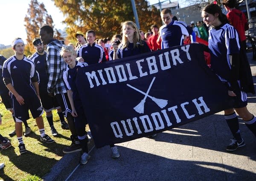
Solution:
[(78, 62), (76, 61), (76, 66), (74, 68), (70, 68), (69, 65), (66, 65), (66, 70), (63, 72), (63, 80), (66, 85), (66, 88), (68, 90), (73, 91), (73, 99), (75, 100), (80, 100), (78, 96), (78, 91), (76, 89), (76, 74), (77, 74), (77, 69), (80, 67), (86, 67), (88, 66), (87, 63), (85, 62)]

